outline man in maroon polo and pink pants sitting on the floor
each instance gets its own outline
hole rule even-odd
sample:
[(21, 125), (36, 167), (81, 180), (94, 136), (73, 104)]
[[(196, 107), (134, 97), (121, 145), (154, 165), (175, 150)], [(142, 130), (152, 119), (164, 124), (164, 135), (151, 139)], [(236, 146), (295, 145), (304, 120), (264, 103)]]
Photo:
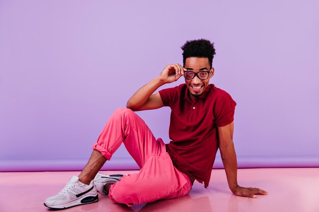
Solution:
[[(58, 195), (46, 199), (51, 208), (67, 208), (98, 200), (97, 191), (108, 194), (113, 202), (128, 206), (158, 199), (186, 195), (194, 180), (208, 187), (217, 149), (220, 149), (229, 189), (237, 196), (255, 198), (267, 192), (237, 184), (237, 162), (233, 137), (236, 103), (224, 90), (209, 84), (214, 76), (212, 59), (215, 48), (210, 41), (188, 41), (182, 47), (183, 67), (168, 65), (158, 77), (141, 87), (104, 126), (89, 162), (72, 176)], [(162, 89), (160, 86), (185, 78), (185, 84)], [(155, 139), (144, 121), (133, 111), (169, 106), (171, 123), (164, 144)], [(138, 174), (105, 175), (98, 173), (124, 143), (141, 168)]]

